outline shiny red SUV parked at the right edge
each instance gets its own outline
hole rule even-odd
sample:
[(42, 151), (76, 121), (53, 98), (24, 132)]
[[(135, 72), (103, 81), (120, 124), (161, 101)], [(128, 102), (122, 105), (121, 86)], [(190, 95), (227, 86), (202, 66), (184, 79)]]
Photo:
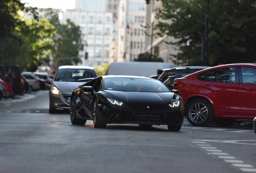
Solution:
[(174, 81), (192, 125), (228, 126), (256, 115), (256, 64), (219, 65)]

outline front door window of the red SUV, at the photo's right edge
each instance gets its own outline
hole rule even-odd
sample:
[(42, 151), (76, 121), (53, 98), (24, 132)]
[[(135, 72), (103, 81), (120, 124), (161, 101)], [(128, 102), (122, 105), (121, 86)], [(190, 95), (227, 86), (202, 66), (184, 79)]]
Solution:
[(245, 84), (256, 84), (256, 69), (242, 67), (242, 79)]

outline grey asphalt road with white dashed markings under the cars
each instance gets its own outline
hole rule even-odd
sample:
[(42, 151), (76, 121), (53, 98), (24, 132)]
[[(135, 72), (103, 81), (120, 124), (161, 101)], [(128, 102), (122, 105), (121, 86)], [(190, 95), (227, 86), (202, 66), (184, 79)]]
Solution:
[(255, 173), (252, 127), (72, 125), (48, 91), (0, 101), (0, 173)]

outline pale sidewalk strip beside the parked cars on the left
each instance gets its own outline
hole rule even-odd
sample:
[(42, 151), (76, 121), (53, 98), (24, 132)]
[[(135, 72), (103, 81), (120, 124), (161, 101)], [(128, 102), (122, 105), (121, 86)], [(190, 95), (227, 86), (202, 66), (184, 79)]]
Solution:
[(10, 105), (15, 105), (16, 103), (22, 102), (22, 101), (27, 101), (29, 99), (33, 99), (37, 97), (37, 95), (42, 95), (42, 94), (47, 94), (49, 91), (48, 90), (39, 90), (31, 93), (25, 93), (24, 95), (14, 95), (13, 99), (5, 99), (2, 98), (0, 101), (0, 109), (4, 107), (8, 107)]

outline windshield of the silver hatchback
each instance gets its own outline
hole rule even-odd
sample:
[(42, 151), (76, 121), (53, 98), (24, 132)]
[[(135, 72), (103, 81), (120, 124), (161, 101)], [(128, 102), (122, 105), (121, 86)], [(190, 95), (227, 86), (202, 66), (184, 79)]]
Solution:
[(91, 69), (59, 69), (54, 81), (77, 82), (79, 79), (91, 77), (96, 77)]

